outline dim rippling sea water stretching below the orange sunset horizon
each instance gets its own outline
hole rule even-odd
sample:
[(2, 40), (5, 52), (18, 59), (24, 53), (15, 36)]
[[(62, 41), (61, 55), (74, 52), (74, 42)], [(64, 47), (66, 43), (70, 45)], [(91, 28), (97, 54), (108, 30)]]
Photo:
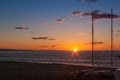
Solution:
[[(120, 51), (113, 52), (113, 65), (120, 67)], [(0, 61), (58, 63), (91, 66), (91, 51), (0, 51)], [(110, 51), (94, 51), (94, 66), (110, 67)]]

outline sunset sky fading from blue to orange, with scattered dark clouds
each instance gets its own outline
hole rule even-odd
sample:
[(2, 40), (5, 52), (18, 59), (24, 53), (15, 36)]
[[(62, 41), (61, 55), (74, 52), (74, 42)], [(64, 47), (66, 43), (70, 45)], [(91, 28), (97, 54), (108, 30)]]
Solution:
[[(24, 50), (120, 50), (120, 0), (0, 0), (0, 48)], [(96, 12), (95, 12), (96, 11)], [(108, 17), (107, 17), (108, 16)]]

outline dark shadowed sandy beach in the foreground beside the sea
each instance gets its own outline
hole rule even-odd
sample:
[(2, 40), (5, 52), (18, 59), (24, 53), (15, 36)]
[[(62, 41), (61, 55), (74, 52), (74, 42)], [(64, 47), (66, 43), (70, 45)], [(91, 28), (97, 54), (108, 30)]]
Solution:
[(114, 80), (114, 76), (82, 77), (80, 73), (74, 74), (87, 69), (90, 67), (1, 61), (0, 80)]

